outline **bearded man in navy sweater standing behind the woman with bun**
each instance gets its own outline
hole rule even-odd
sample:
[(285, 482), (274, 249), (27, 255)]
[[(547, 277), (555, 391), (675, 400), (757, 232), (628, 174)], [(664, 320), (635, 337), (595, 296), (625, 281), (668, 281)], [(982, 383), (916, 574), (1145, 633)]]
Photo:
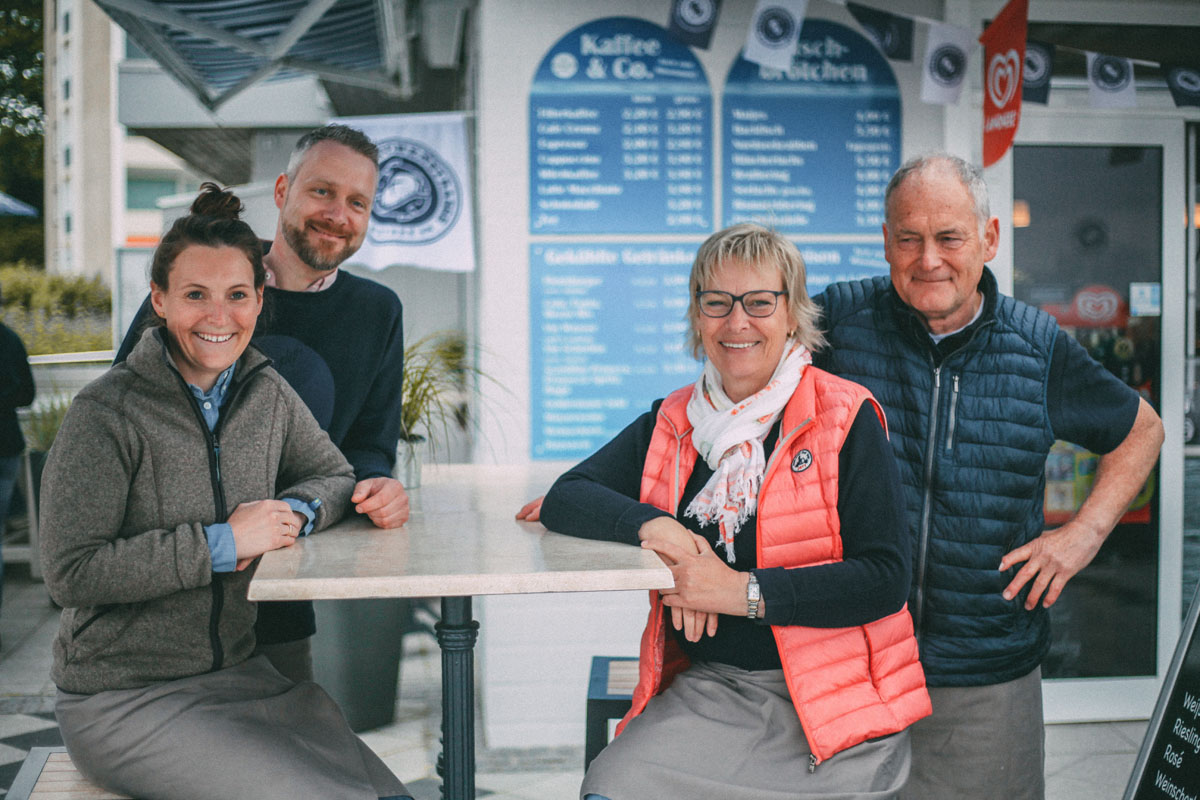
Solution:
[[(366, 236), (378, 156), (371, 139), (344, 125), (296, 142), (275, 181), (280, 217), (275, 239), (263, 243), (266, 289), (253, 344), (354, 467), (355, 511), (379, 528), (397, 528), (408, 521), (408, 495), (391, 477), (404, 356), (401, 303), (386, 287), (338, 269)], [(143, 303), (118, 362), (150, 313)], [(293, 680), (312, 680), (314, 631), (308, 601), (258, 606), (258, 651)]]

